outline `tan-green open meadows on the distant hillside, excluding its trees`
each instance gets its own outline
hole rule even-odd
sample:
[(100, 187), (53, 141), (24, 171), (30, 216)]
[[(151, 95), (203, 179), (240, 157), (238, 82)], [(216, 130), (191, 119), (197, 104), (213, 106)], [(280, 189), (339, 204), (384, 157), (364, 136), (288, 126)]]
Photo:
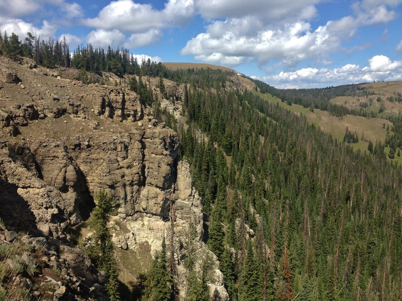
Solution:
[[(378, 82), (362, 84), (367, 95), (346, 95), (336, 96), (328, 101), (340, 107), (350, 110), (366, 110), (371, 111), (377, 117), (364, 117), (354, 114), (346, 114), (336, 116), (329, 110), (319, 108), (309, 108), (297, 103), (285, 102), (282, 99), (272, 96), (269, 93), (261, 93), (254, 91), (255, 94), (271, 103), (277, 103), (293, 113), (303, 114), (307, 120), (319, 126), (323, 131), (332, 134), (333, 137), (342, 140), (346, 129), (357, 134), (359, 141), (351, 143), (353, 148), (366, 151), (368, 143), (371, 140), (384, 142), (387, 137), (387, 128), (392, 129), (393, 123), (390, 117), (397, 117), (402, 112), (402, 103), (397, 102), (398, 93), (402, 91), (402, 82)], [(314, 89), (311, 89), (314, 90)], [(297, 93), (297, 90), (294, 90)], [(359, 94), (359, 93), (357, 93)], [(361, 94), (361, 93), (360, 93)], [(314, 98), (312, 98), (314, 101)], [(383, 106), (382, 112), (380, 107)], [(391, 132), (392, 133), (392, 132)], [(389, 147), (385, 147), (385, 153), (388, 154)], [(402, 163), (400, 157), (396, 157), (392, 161)]]

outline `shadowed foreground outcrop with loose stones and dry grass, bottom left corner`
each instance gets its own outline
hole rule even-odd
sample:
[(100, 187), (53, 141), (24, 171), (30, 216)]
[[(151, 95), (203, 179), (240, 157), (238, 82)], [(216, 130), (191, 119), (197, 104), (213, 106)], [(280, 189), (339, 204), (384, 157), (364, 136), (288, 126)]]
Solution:
[[(7, 299), (23, 300), (108, 300), (104, 295), (105, 277), (82, 251), (45, 237), (17, 235), (0, 226), (0, 246)], [(2, 278), (3, 280), (3, 278)], [(18, 289), (16, 289), (18, 287)], [(3, 294), (2, 294), (3, 295)]]

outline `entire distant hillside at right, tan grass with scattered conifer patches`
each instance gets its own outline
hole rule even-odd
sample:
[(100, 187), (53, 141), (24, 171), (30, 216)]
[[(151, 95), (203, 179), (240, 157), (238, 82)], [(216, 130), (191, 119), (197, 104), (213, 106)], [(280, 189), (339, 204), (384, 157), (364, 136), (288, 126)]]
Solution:
[(399, 137), (402, 137), (399, 129), (402, 123), (399, 117), (402, 112), (402, 82), (289, 90), (254, 82), (258, 89), (254, 93), (268, 102), (305, 115), (309, 122), (337, 139), (343, 140), (347, 132), (354, 134), (358, 141), (351, 145), (363, 152), (368, 152), (370, 144), (381, 142), (385, 154), (391, 152), (389, 160), (402, 164), (402, 157), (397, 156), (402, 146), (399, 142)]

